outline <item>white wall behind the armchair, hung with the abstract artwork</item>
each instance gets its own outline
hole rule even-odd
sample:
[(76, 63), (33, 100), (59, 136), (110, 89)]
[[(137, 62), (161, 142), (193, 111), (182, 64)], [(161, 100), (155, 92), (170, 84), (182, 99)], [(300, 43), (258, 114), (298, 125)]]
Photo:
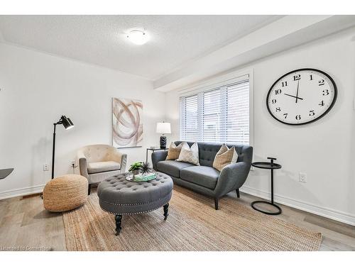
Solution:
[(0, 198), (40, 191), (50, 179), (53, 123), (62, 114), (75, 128), (57, 126), (55, 174), (72, 172), (77, 148), (111, 144), (111, 97), (143, 101), (143, 147), (124, 148), (128, 165), (158, 145), (155, 125), (163, 121), (165, 95), (146, 79), (82, 62), (0, 44)]

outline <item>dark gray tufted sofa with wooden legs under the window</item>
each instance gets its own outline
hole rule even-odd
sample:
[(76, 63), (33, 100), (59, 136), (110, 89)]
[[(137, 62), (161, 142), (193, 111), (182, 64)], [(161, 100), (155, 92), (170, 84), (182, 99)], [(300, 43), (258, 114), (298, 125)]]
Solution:
[[(179, 145), (181, 141), (176, 141)], [(187, 142), (188, 145), (193, 144)], [(218, 210), (218, 199), (228, 192), (236, 190), (239, 197), (239, 188), (246, 181), (251, 167), (253, 157), (253, 147), (234, 145), (238, 160), (236, 163), (227, 165), (222, 172), (212, 167), (222, 144), (219, 143), (197, 143), (199, 146), (200, 166), (191, 165), (187, 162), (177, 162), (175, 160), (165, 160), (168, 155), (167, 150), (158, 151), (152, 154), (154, 170), (169, 174), (175, 184), (187, 187), (214, 198), (214, 207)], [(226, 144), (229, 148), (233, 145)]]

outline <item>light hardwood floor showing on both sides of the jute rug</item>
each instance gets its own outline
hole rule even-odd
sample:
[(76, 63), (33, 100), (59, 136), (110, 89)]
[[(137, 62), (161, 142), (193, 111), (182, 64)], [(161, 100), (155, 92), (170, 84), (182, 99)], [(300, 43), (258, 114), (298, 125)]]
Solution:
[[(92, 193), (96, 193), (95, 189), (92, 189)], [(236, 198), (236, 193), (231, 192), (229, 196)], [(255, 200), (258, 200), (256, 196), (244, 193), (241, 193), (240, 199), (236, 199), (249, 208), (251, 201)], [(280, 206), (283, 213), (277, 218), (322, 233), (320, 250), (355, 250), (355, 226)], [(223, 204), (219, 207), (223, 208)], [(2, 247), (48, 247), (53, 250), (66, 250), (62, 214), (45, 211), (40, 196), (1, 200), (0, 214), (0, 250)]]

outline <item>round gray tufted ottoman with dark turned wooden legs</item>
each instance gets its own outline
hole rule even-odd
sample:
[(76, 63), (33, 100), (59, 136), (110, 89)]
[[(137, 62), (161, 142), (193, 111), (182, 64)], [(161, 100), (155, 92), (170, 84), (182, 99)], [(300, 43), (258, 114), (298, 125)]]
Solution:
[(164, 206), (164, 220), (173, 190), (173, 180), (157, 172), (156, 179), (148, 182), (130, 182), (126, 174), (117, 174), (102, 181), (97, 188), (101, 209), (115, 214), (116, 235), (121, 231), (124, 214), (142, 214)]

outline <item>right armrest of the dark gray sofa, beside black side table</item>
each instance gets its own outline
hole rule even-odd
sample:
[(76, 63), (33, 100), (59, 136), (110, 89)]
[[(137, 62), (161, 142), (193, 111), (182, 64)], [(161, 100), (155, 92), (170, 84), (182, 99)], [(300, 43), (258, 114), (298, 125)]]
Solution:
[(239, 189), (248, 177), (251, 165), (247, 162), (236, 162), (226, 165), (219, 174), (214, 194), (223, 196), (234, 189)]

